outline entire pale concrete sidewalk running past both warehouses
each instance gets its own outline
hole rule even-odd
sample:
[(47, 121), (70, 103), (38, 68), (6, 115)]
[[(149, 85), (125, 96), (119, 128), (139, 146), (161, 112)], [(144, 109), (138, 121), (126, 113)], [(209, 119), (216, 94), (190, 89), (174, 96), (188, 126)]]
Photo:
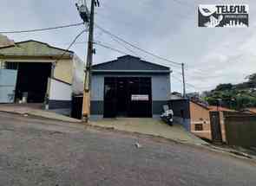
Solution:
[[(36, 105), (0, 105), (0, 112), (10, 112), (21, 115), (36, 116), (44, 119), (54, 119), (69, 123), (82, 124), (81, 120), (72, 119), (55, 112), (45, 111)], [(207, 144), (207, 142), (186, 131), (181, 125), (169, 126), (160, 119), (102, 119), (97, 121), (89, 121), (89, 125), (111, 128), (117, 131), (128, 131), (152, 135), (154, 137), (167, 138), (185, 144)]]

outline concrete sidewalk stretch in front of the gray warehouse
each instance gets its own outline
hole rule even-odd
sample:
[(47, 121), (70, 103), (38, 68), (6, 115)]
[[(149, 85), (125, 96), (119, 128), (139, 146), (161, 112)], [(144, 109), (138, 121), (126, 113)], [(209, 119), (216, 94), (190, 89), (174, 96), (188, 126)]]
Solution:
[(160, 119), (102, 119), (99, 121), (91, 121), (89, 125), (112, 128), (118, 131), (138, 132), (171, 139), (184, 144), (207, 144), (207, 142), (186, 131), (181, 125), (170, 126)]

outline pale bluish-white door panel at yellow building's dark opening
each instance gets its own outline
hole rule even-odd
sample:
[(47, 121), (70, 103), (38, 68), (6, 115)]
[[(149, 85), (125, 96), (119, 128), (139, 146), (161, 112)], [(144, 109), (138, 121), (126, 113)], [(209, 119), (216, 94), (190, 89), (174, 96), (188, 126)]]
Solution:
[(0, 69), (0, 103), (14, 103), (17, 70)]

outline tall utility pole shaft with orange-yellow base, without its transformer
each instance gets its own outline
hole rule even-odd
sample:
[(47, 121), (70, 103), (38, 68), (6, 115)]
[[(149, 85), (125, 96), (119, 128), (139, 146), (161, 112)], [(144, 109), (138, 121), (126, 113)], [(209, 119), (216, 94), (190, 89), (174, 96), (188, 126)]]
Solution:
[(91, 0), (89, 16), (89, 42), (87, 52), (87, 62), (85, 67), (85, 79), (82, 101), (82, 121), (88, 122), (90, 115), (90, 87), (91, 87), (91, 67), (94, 55), (94, 22), (95, 22), (95, 0)]

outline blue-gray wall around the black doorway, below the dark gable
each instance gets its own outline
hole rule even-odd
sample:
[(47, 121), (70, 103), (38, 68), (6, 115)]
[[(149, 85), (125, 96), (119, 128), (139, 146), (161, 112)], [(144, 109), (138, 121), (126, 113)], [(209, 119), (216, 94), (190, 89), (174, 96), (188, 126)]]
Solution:
[(104, 78), (105, 77), (150, 77), (152, 78), (153, 117), (159, 117), (162, 106), (167, 104), (170, 93), (169, 74), (93, 74), (91, 91), (91, 113), (97, 118), (103, 116), (104, 110)]

